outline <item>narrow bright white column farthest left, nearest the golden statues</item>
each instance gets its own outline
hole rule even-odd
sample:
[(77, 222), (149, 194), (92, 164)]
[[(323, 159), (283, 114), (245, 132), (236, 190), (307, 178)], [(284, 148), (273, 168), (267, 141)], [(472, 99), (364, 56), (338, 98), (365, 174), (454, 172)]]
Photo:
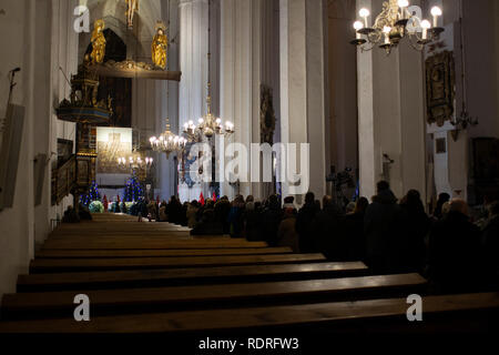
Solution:
[[(179, 126), (197, 120), (206, 113), (208, 1), (181, 0), (180, 17), (180, 70), (182, 80), (179, 97)], [(202, 189), (180, 186), (181, 200), (200, 197)]]

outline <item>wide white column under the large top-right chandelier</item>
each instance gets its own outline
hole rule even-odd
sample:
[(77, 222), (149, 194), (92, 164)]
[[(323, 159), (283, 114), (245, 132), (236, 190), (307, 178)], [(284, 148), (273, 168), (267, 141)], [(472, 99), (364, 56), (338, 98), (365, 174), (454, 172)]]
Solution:
[[(363, 7), (375, 17), (381, 1), (358, 0), (357, 10)], [(388, 175), (398, 197), (410, 189), (425, 196), (422, 54), (404, 39), (388, 57), (378, 48), (358, 51), (357, 64), (360, 194), (370, 199), (376, 182)], [(389, 172), (384, 172), (384, 154), (394, 160)]]

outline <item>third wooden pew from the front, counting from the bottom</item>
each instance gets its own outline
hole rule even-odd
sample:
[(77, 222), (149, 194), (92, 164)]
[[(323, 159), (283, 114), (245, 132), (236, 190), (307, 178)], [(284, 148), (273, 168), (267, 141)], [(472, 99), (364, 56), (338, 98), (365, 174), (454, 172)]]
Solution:
[(18, 292), (271, 282), (365, 274), (367, 266), (361, 262), (34, 274), (18, 277)]

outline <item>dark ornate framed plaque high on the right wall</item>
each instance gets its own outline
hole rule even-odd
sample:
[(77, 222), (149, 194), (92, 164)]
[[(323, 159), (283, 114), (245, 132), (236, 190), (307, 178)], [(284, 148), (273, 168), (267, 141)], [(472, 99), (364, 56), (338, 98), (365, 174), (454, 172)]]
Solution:
[(426, 100), (428, 124), (442, 126), (452, 119), (456, 95), (455, 62), (450, 51), (426, 60)]

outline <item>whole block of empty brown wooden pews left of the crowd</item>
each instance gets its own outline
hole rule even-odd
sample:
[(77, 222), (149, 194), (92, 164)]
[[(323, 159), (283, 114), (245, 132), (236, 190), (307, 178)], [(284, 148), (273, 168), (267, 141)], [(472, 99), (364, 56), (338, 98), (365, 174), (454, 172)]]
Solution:
[[(78, 294), (90, 322), (73, 317)], [(407, 320), (411, 294), (422, 322)], [(498, 310), (497, 293), (428, 295), (419, 274), (371, 275), (361, 262), (98, 214), (49, 236), (3, 295), (0, 333), (490, 331)]]

